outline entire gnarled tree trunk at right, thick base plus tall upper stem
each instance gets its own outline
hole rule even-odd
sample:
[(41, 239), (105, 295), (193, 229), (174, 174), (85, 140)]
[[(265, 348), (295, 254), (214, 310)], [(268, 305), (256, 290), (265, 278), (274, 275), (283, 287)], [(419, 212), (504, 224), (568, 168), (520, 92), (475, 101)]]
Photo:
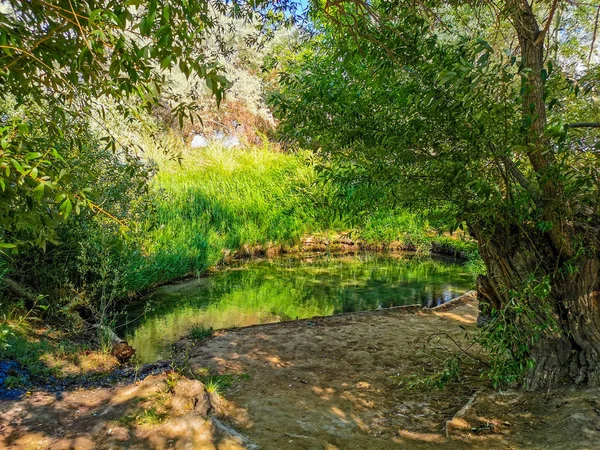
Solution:
[[(565, 198), (551, 143), (545, 136), (543, 42), (557, 3), (553, 3), (543, 29), (526, 0), (505, 3), (519, 37), (522, 69), (526, 69), (523, 144), (537, 182), (536, 208), (542, 220), (551, 224), (550, 229), (543, 232), (535, 223), (517, 223), (512, 218), (504, 218), (502, 222), (508, 225), (496, 228), (470, 226), (487, 267), (487, 275), (479, 278), (477, 286), (484, 314), (490, 308), (502, 310), (513, 295), (519, 295), (515, 293), (523, 293), (530, 276), (549, 280), (545, 299), (532, 296), (527, 300), (534, 318), (539, 313), (540, 324), (549, 311), (558, 325), (543, 331), (531, 348), (536, 364), (527, 380), (530, 388), (563, 381), (600, 385), (600, 254), (595, 250), (600, 248), (600, 228), (593, 228), (597, 227), (593, 220), (573, 212), (577, 208)], [(580, 248), (587, 249), (583, 255), (575, 254), (577, 239)], [(519, 323), (522, 318), (515, 314), (512, 320)]]

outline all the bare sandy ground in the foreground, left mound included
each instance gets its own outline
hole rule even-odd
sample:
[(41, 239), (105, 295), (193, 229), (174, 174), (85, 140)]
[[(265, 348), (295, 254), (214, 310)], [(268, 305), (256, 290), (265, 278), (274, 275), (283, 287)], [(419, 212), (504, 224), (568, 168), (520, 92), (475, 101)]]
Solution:
[[(213, 414), (265, 450), (600, 448), (597, 389), (495, 392), (476, 366), (444, 390), (406, 388), (442, 367), (476, 317), (470, 299), (436, 311), (226, 330), (203, 343), (182, 341), (178, 364), (249, 375)], [(244, 448), (197, 414), (133, 428), (119, 422), (164, 389), (164, 378), (0, 402), (0, 448)]]

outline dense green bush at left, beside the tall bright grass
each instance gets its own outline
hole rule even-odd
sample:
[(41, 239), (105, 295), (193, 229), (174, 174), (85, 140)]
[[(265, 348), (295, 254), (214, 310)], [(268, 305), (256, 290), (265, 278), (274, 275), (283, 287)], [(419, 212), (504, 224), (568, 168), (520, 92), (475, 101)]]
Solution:
[[(105, 148), (83, 123), (78, 124), (76, 136), (69, 134), (67, 126), (63, 139), (52, 143), (35, 134), (43, 130), (31, 131), (31, 145), (60, 149), (66, 171), (62, 189), (85, 191), (87, 202), (72, 204), (72, 213), (62, 219), (51, 213), (56, 220), (40, 228), (46, 238), (51, 237), (42, 247), (34, 245), (32, 229), (9, 229), (4, 239), (18, 246), (11, 254), (0, 253), (0, 275), (10, 272), (35, 293), (45, 295), (49, 300), (46, 315), (56, 319), (66, 314), (65, 324), (71, 322), (67, 305), (75, 303), (85, 304), (103, 321), (109, 304), (127, 293), (123, 276), (131, 256), (141, 253), (140, 236), (151, 207), (147, 181), (152, 167), (125, 150)], [(24, 198), (14, 201), (27, 203)], [(42, 215), (40, 220), (50, 218)]]

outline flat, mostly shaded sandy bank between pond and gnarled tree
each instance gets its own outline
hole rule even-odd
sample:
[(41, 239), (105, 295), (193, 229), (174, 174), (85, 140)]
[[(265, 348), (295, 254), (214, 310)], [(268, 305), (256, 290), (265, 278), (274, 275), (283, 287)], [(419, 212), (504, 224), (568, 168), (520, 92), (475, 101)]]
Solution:
[(250, 375), (229, 420), (265, 450), (600, 448), (598, 390), (498, 393), (476, 368), (441, 391), (399, 388), (398, 374), (441, 368), (476, 318), (471, 299), (228, 330), (187, 353), (192, 368)]

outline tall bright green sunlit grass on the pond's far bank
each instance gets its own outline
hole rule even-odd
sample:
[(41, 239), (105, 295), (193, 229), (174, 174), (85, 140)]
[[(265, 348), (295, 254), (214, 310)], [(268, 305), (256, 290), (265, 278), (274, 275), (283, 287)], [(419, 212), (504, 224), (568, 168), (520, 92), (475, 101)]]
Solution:
[(315, 214), (313, 196), (323, 194), (302, 154), (267, 146), (175, 150), (177, 160), (148, 147), (159, 169), (154, 211), (143, 251), (127, 270), (130, 291), (202, 273), (243, 246), (294, 245), (307, 233), (341, 226)]

